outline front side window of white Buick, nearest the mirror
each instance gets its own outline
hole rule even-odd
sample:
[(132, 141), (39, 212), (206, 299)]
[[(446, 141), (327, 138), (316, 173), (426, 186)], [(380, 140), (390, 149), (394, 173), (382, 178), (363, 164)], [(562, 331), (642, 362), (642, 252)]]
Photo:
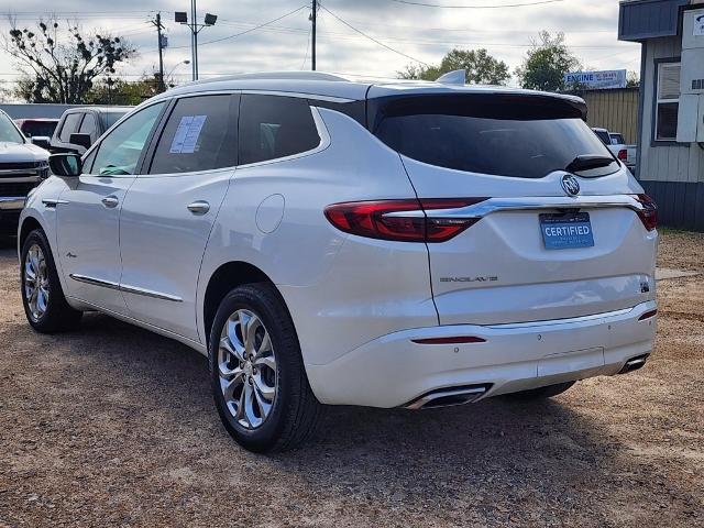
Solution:
[(144, 144), (166, 102), (140, 110), (113, 129), (98, 145), (90, 174), (134, 174)]

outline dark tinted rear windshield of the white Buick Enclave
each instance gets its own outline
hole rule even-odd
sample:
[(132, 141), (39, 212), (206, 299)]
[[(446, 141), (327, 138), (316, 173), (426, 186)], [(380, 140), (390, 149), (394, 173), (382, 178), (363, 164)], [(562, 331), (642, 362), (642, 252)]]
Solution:
[[(465, 94), (377, 101), (372, 132), (400, 154), (430, 165), (518, 178), (564, 170), (578, 156), (613, 157), (572, 101), (541, 96)], [(616, 160), (581, 176), (618, 169)]]

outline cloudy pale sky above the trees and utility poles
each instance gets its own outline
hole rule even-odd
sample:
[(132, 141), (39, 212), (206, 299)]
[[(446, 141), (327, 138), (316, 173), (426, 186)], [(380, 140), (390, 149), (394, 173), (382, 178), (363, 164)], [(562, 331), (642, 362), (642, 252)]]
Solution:
[[(536, 4), (539, 1), (547, 3)], [(484, 47), (513, 73), (541, 30), (563, 32), (568, 46), (590, 69), (639, 69), (640, 45), (616, 37), (617, 0), (321, 0), (320, 6), (321, 72), (396, 77), (408, 64), (439, 63), (453, 47)], [(201, 78), (310, 69), (310, 1), (198, 0), (197, 8), (199, 21), (206, 12), (218, 15), (216, 25), (199, 34)], [(8, 16), (31, 28), (55, 13), (77, 21), (85, 33), (123, 36), (139, 54), (118, 73), (138, 79), (158, 66), (156, 29), (150, 23), (157, 11), (168, 35), (164, 70), (173, 72), (178, 84), (188, 81), (190, 66), (183, 62), (190, 59), (190, 32), (174, 22), (174, 11), (190, 16), (188, 0), (0, 0), (0, 32), (7, 35)], [(16, 77), (12, 57), (0, 50), (0, 86), (9, 87)], [(516, 82), (514, 77), (510, 84)]]

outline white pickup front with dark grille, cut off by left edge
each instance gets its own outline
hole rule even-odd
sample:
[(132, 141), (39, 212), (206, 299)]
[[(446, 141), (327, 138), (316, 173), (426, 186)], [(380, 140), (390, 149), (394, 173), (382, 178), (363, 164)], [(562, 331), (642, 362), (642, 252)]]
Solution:
[(48, 153), (0, 110), (0, 234), (15, 234), (28, 193), (48, 176)]

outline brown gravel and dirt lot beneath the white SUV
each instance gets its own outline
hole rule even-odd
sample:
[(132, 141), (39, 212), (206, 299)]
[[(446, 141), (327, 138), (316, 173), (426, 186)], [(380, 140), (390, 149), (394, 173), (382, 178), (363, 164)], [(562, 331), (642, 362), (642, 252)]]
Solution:
[[(660, 265), (704, 272), (704, 237)], [(645, 370), (552, 402), (329, 410), (318, 438), (242, 451), (206, 360), (86, 317), (33, 333), (0, 249), (0, 526), (704, 526), (704, 275), (659, 283)]]

